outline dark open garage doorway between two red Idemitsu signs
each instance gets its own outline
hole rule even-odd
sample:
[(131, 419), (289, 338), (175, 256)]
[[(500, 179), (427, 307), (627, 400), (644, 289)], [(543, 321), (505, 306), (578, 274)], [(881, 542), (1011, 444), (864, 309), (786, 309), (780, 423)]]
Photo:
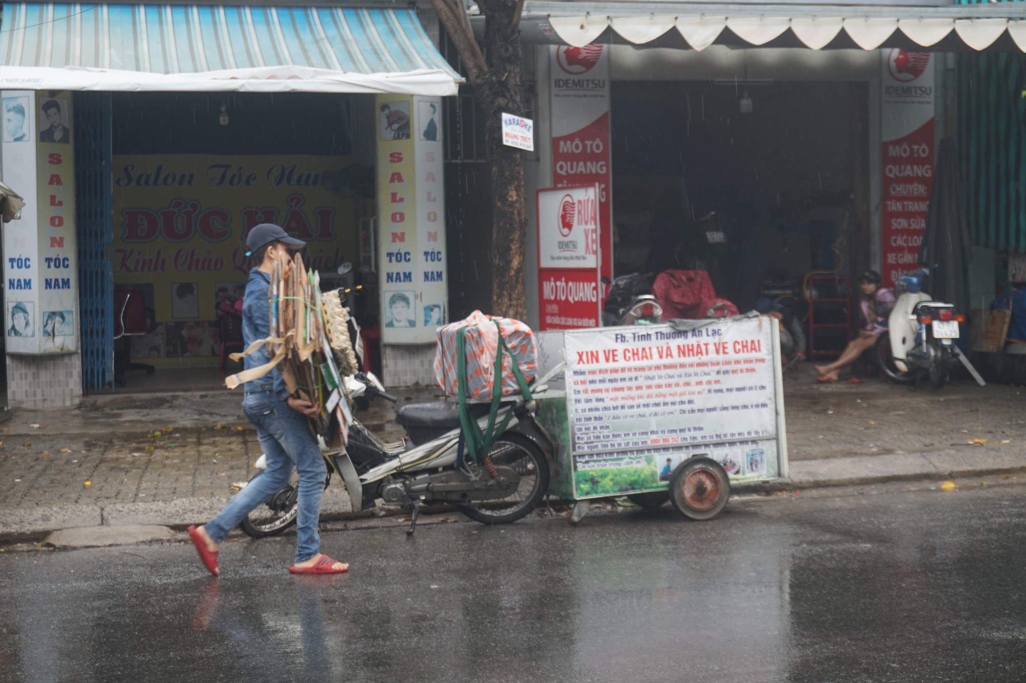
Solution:
[(614, 81), (615, 274), (708, 271), (741, 311), (851, 275), (859, 105), (842, 81)]

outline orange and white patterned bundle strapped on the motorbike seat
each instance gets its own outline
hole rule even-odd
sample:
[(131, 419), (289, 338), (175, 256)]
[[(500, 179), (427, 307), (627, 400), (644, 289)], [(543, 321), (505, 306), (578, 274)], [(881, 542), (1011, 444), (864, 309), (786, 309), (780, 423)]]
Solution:
[[(496, 323), (499, 328), (496, 328)], [(460, 330), (467, 329), (461, 332)], [(499, 334), (503, 335), (510, 353), (516, 358), (524, 378), (530, 383), (538, 370), (538, 345), (535, 332), (519, 320), (492, 318), (474, 311), (465, 320), (438, 328), (438, 349), (435, 351), (435, 377), (446, 396), (460, 395), (457, 339), (466, 334), (467, 398), (491, 400), (496, 374), (496, 349)], [(510, 354), (503, 353), (502, 396), (519, 393)]]

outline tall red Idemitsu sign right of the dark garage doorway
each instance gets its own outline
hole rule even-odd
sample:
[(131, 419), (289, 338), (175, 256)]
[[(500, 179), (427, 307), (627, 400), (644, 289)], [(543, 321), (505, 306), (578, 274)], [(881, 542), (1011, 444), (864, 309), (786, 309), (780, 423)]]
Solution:
[(934, 57), (885, 49), (883, 54), (883, 284), (918, 268), (934, 186)]

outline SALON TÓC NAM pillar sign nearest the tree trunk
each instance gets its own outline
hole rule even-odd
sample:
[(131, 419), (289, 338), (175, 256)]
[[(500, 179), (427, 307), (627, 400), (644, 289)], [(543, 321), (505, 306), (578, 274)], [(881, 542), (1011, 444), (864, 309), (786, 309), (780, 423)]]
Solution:
[(448, 321), (441, 98), (377, 103), (382, 342), (433, 343)]

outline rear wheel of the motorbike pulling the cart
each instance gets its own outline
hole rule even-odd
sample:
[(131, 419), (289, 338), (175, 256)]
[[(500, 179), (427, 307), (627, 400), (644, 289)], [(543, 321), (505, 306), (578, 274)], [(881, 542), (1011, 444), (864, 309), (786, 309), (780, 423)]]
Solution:
[(537, 508), (549, 490), (549, 461), (530, 439), (509, 432), (491, 444), (488, 453), (496, 466), (512, 468), (520, 475), (519, 487), (505, 498), (461, 504), (457, 508), (482, 524), (515, 522)]

